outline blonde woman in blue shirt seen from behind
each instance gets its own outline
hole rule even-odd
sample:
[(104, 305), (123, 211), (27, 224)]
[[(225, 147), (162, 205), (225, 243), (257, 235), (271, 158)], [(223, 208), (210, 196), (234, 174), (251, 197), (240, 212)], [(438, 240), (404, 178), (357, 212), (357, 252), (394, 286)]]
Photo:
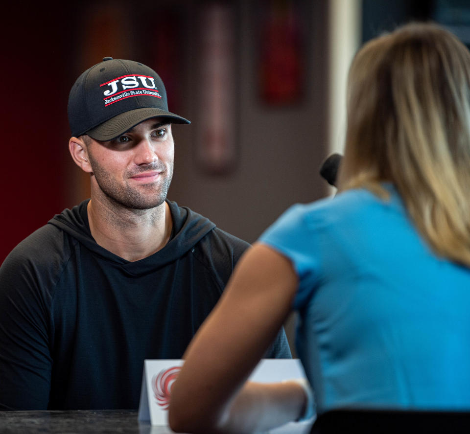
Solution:
[(173, 429), (302, 417), (296, 383), (244, 385), (292, 308), (317, 413), (470, 409), (469, 102), (470, 53), (437, 25), (357, 53), (339, 194), (293, 206), (242, 258), (185, 355)]

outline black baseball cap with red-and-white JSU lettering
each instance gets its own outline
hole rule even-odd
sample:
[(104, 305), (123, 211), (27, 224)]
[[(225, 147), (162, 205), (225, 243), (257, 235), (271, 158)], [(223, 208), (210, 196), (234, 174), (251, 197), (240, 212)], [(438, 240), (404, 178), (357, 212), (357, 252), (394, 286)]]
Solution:
[(87, 134), (103, 141), (155, 116), (164, 116), (170, 123), (190, 123), (168, 111), (163, 81), (153, 69), (112, 57), (77, 78), (67, 111), (72, 136)]

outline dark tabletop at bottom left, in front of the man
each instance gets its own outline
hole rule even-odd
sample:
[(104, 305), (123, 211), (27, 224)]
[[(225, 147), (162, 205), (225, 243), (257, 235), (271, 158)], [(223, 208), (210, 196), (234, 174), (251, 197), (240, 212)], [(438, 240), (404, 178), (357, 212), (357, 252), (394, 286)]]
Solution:
[(139, 422), (135, 410), (0, 411), (0, 434), (169, 434)]

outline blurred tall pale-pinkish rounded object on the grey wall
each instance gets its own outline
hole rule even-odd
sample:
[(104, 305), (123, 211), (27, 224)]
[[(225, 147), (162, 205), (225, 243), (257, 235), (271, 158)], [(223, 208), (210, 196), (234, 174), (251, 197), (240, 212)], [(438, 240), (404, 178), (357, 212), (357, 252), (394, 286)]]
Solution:
[(237, 10), (211, 1), (198, 8), (195, 158), (206, 173), (223, 175), (237, 160)]

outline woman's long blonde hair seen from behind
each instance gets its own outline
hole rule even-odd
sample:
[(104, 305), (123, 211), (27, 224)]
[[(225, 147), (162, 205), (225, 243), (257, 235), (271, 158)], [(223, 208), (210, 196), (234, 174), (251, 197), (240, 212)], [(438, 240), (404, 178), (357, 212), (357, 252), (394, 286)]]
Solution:
[(470, 266), (470, 53), (432, 23), (366, 44), (348, 79), (339, 188), (392, 182), (438, 254)]

